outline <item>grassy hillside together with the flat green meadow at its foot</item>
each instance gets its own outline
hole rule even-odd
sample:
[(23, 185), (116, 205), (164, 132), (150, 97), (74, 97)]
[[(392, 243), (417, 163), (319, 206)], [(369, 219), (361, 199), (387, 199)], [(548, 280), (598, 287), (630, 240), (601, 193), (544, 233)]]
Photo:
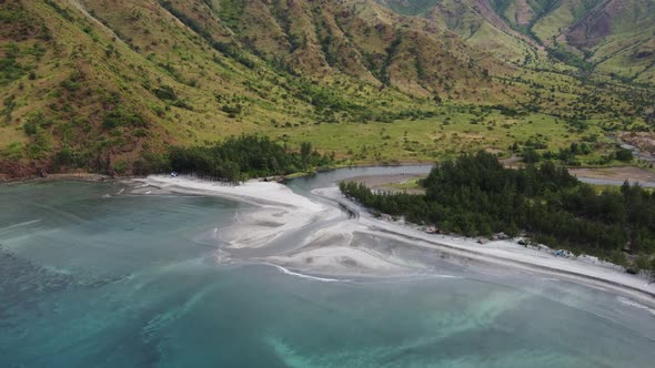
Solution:
[[(0, 176), (143, 173), (170, 145), (240, 133), (342, 163), (594, 135), (593, 161), (604, 131), (644, 129), (648, 89), (525, 68), (537, 47), (481, 24), (463, 39), (354, 0), (6, 0)], [(506, 58), (491, 38), (513, 40)]]

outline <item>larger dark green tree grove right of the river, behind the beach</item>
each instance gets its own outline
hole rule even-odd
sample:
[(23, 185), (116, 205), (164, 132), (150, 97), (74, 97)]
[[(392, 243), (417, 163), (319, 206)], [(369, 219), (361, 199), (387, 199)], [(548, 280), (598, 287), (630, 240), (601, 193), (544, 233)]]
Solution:
[[(552, 162), (505, 168), (480, 152), (435, 166), (425, 195), (374, 193), (356, 183), (341, 191), (374, 211), (435, 224), (467, 236), (511, 236), (525, 231), (537, 242), (614, 260), (623, 251), (655, 254), (655, 193), (625, 183), (598, 193)], [(655, 270), (655, 260), (644, 262)]]

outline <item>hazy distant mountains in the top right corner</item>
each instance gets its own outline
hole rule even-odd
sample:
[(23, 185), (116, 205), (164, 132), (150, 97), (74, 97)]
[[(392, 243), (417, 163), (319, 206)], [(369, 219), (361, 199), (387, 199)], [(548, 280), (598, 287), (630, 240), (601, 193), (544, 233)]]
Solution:
[(655, 84), (652, 0), (379, 0), (490, 47), (512, 62), (538, 61), (535, 47), (586, 71)]

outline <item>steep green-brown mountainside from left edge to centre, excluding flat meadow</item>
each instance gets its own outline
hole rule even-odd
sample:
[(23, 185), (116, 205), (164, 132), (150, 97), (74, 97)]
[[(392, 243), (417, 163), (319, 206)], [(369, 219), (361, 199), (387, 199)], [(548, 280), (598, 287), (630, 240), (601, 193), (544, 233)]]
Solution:
[(492, 88), (487, 70), (457, 39), (397, 28), (367, 7), (228, 0), (0, 6), (0, 172), (8, 175), (68, 166), (130, 172), (138, 157), (170, 143), (265, 132), (279, 123), (389, 119), (430, 109), (442, 93), (494, 102), (493, 93), (481, 95)]

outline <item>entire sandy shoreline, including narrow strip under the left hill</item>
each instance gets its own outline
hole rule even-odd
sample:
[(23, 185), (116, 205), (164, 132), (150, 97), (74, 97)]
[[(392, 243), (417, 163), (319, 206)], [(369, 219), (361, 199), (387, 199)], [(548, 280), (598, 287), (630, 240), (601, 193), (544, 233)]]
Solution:
[[(335, 235), (341, 238), (350, 237), (349, 242), (352, 242), (353, 234), (369, 234), (385, 238), (395, 237), (397, 242), (407, 243), (417, 248), (422, 247), (427, 252), (439, 251), (449, 253), (455, 257), (460, 257), (461, 260), (473, 259), (490, 265), (508, 266), (514, 269), (558, 275), (573, 279), (578, 284), (586, 284), (596, 288), (608, 287), (615, 292), (629, 294), (631, 296), (646, 300), (648, 304), (655, 305), (655, 284), (643, 277), (628, 275), (624, 272), (618, 273), (616, 268), (608, 269), (597, 264), (583, 264), (577, 259), (555, 258), (545, 252), (540, 252), (536, 256), (534, 254), (530, 255), (531, 249), (520, 247), (511, 242), (491, 242), (480, 245), (475, 239), (462, 237), (454, 237), (452, 239), (442, 237), (440, 239), (434, 235), (412, 228), (410, 225), (399, 225), (372, 217), (365, 208), (343, 197), (335, 186), (314, 190), (312, 193), (324, 201), (330, 201), (342, 206), (341, 209), (339, 206), (331, 207), (324, 203), (295, 194), (283, 184), (260, 182), (258, 180), (251, 180), (242, 185), (234, 186), (184, 176), (171, 178), (168, 175), (131, 178), (112, 178), (95, 174), (58, 174), (54, 177), (52, 176), (32, 180), (30, 183), (75, 180), (85, 182), (122, 181), (128, 184), (141, 183), (142, 186), (158, 187), (163, 192), (211, 195), (249, 203), (259, 209), (246, 213), (242, 218), (238, 219), (236, 224), (223, 229), (220, 241), (230, 244), (231, 251), (248, 254), (250, 259), (271, 262), (291, 270), (326, 276), (390, 276), (407, 275), (415, 270), (413, 265), (404, 263), (406, 259), (393, 258), (393, 255), (374, 254), (374, 252), (361, 246), (352, 248), (342, 246), (339, 249), (339, 245), (332, 244)], [(325, 191), (332, 191), (333, 193), (325, 193)], [(143, 191), (143, 193), (137, 194), (150, 194), (150, 192)], [(337, 229), (314, 229), (305, 234), (305, 242), (298, 246), (280, 246), (279, 244), (270, 246), (272, 243), (283, 243), (284, 236), (289, 233), (309, 227), (318, 227), (322, 221), (333, 221), (337, 217), (336, 213), (342, 213), (342, 209), (353, 214), (352, 219), (355, 225), (350, 228), (346, 228), (349, 226), (344, 226), (344, 228)], [(353, 224), (352, 222), (343, 223)], [(330, 249), (330, 252), (319, 252), (316, 254), (316, 247), (312, 246), (311, 243), (316, 241), (314, 237), (322, 231), (328, 233), (323, 234), (325, 236), (322, 239), (324, 243), (323, 248)], [(246, 233), (245, 236), (242, 235), (244, 233)], [(416, 242), (421, 244), (414, 244)], [(351, 246), (351, 244), (347, 243), (346, 246)], [(275, 252), (273, 254), (271, 254), (272, 251), (266, 252), (269, 248), (273, 248)], [(347, 254), (344, 255), (341, 252), (343, 249), (354, 249), (354, 252), (347, 251)], [(544, 263), (543, 259), (540, 259), (544, 258), (544, 255), (547, 255), (551, 260)], [(240, 255), (236, 255), (236, 258), (239, 257)], [(553, 264), (554, 259), (555, 263)], [(379, 263), (380, 260), (382, 263)], [(572, 265), (573, 269), (571, 269)], [(416, 267), (420, 268), (421, 266)]]

